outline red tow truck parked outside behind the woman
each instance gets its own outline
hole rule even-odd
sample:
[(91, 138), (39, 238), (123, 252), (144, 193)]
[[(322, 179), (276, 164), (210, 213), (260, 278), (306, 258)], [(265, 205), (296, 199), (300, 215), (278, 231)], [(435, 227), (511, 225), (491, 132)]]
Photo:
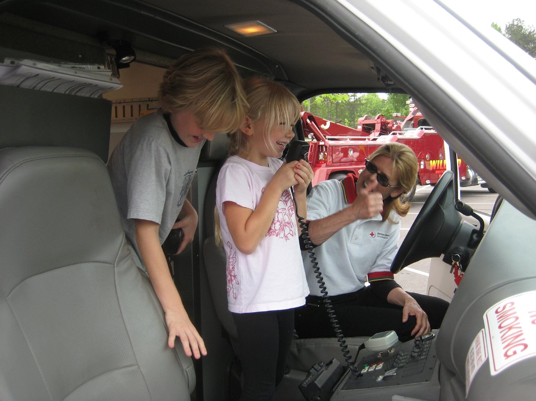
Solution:
[[(309, 163), (314, 172), (312, 185), (327, 179), (341, 179), (348, 173), (359, 175), (368, 158), (387, 142), (401, 142), (413, 149), (419, 161), (419, 172), (413, 189), (406, 195), (411, 201), (417, 185), (435, 185), (446, 169), (443, 138), (437, 134), (416, 107), (407, 117), (386, 119), (364, 115), (356, 128), (301, 112), (304, 136), (309, 142)], [(478, 176), (458, 159), (460, 186), (478, 183)]]

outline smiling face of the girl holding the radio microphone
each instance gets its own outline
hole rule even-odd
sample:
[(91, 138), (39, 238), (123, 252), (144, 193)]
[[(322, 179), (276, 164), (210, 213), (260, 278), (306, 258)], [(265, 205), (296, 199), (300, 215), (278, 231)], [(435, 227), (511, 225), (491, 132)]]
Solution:
[[(248, 125), (249, 117), (247, 118), (246, 125)], [(280, 158), (283, 155), (288, 143), (294, 137), (293, 124), (285, 124), (285, 122), (276, 122), (270, 129), (270, 132), (266, 132), (266, 121), (259, 119), (252, 122), (249, 120), (251, 127), (249, 135), (249, 155), (248, 160), (254, 161), (257, 164), (266, 165), (266, 159), (269, 157)], [(243, 130), (248, 135), (246, 131)]]

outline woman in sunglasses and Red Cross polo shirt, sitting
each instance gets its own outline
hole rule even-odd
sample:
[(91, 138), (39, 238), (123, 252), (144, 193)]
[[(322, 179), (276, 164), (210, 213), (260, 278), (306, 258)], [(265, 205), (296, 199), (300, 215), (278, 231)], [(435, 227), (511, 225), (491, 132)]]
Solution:
[[(449, 306), (443, 299), (404, 291), (390, 272), (400, 217), (410, 209), (401, 197), (415, 183), (417, 163), (408, 146), (386, 143), (366, 160), (359, 178), (349, 174), (342, 181), (318, 183), (308, 196), (310, 241), (345, 336), (394, 330), (407, 341), (439, 328)], [(297, 334), (333, 337), (309, 253), (302, 256), (310, 295), (296, 311)]]

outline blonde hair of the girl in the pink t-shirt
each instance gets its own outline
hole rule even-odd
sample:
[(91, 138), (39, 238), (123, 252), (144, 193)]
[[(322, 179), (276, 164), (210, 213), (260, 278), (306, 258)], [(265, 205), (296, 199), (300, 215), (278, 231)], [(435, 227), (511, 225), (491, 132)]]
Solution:
[[(264, 119), (264, 139), (268, 144), (267, 136), (274, 125), (280, 122), (287, 126), (296, 124), (300, 118), (300, 102), (290, 90), (282, 84), (267, 78), (254, 76), (244, 80), (244, 90), (249, 109), (246, 115), (256, 122)], [(240, 129), (229, 134), (229, 155), (248, 152), (245, 135)]]

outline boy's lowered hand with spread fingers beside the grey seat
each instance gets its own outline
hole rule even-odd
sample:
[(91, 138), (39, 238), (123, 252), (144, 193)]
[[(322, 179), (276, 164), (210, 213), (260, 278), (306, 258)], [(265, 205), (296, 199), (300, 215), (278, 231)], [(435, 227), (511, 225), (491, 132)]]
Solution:
[(175, 337), (180, 338), (182, 348), (187, 356), (199, 359), (206, 355), (205, 343), (185, 313), (168, 311), (165, 313), (169, 331), (168, 346), (175, 346)]

